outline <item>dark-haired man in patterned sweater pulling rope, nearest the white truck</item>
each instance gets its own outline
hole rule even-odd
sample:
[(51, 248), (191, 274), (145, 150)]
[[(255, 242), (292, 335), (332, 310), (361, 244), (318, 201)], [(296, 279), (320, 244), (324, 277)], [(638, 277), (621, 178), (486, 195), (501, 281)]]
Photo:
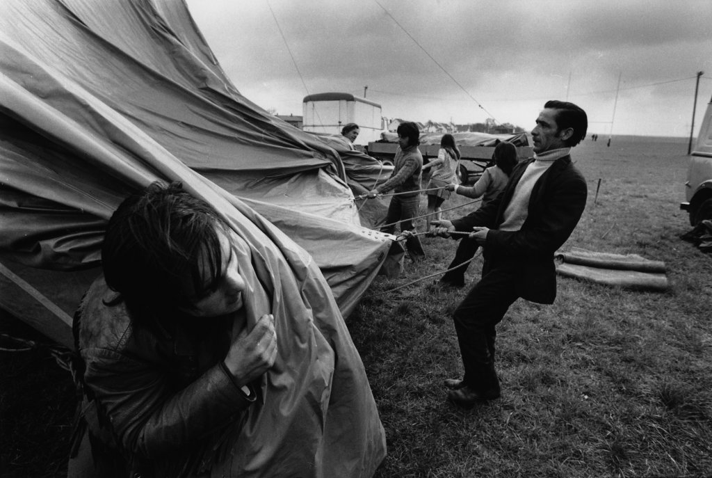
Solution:
[[(414, 231), (413, 218), (417, 217), (420, 206), (420, 181), (422, 179), (423, 155), (418, 149), (420, 130), (412, 122), (398, 125), (398, 148), (393, 160), (393, 172), (386, 182), (368, 192), (367, 197), (394, 189), (394, 196), (388, 205), (386, 227), (383, 232), (393, 234), (396, 224), (401, 231)], [(423, 246), (417, 236), (406, 239), (408, 254), (412, 261), (419, 261), (425, 256)]]

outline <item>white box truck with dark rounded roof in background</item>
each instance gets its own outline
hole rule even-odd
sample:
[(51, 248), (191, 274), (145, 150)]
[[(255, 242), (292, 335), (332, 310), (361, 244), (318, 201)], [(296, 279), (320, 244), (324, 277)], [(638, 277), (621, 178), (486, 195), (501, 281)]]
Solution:
[(302, 101), (302, 129), (310, 133), (340, 135), (341, 128), (356, 123), (360, 133), (355, 145), (381, 139), (381, 105), (350, 93), (316, 93)]

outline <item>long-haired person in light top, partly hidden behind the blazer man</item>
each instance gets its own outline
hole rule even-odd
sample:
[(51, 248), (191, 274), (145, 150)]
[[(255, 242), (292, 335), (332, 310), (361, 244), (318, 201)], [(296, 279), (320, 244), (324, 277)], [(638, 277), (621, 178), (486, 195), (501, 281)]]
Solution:
[[(447, 185), (449, 191), (454, 191), (456, 194), (461, 194), (466, 197), (476, 199), (482, 197), (480, 207), (485, 207), (486, 204), (493, 201), (504, 190), (509, 180), (513, 168), (517, 164), (517, 148), (511, 142), (500, 142), (492, 154), (492, 159), (495, 162), (494, 166), (488, 167), (482, 173), (480, 179), (477, 180), (473, 187), (466, 187), (456, 184)], [(455, 239), (458, 239), (457, 237)], [(477, 252), (478, 244), (474, 239), (463, 237), (455, 252), (455, 258), (452, 260), (448, 269), (452, 269), (459, 264), (463, 264), (472, 259)], [(456, 267), (451, 271), (447, 271), (439, 284), (441, 286), (462, 287), (465, 285), (465, 272), (469, 262), (462, 266)]]

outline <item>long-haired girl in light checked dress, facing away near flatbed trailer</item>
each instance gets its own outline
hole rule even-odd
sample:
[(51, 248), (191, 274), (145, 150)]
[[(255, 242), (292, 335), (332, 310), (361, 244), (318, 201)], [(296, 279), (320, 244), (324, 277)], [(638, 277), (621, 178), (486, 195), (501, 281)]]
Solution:
[(425, 218), (426, 227), (430, 219), (440, 219), (440, 207), (446, 199), (450, 198), (452, 189), (446, 189), (446, 186), (456, 180), (457, 166), (460, 161), (460, 150), (455, 144), (455, 138), (451, 134), (443, 135), (440, 140), (440, 150), (438, 157), (435, 160), (428, 162), (423, 166), (423, 170), (432, 168), (430, 172), (430, 180), (425, 189), (440, 188), (436, 191), (428, 191), (428, 216)]

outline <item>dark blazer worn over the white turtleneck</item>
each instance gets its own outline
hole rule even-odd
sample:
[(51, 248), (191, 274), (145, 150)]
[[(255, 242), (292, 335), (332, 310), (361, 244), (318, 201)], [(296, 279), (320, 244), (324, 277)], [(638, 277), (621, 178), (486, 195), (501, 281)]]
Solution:
[(504, 191), (488, 204), (453, 221), (459, 232), (471, 232), (473, 226), (488, 227), (483, 256), (483, 278), (488, 271), (500, 269), (512, 275), (519, 296), (528, 301), (553, 303), (556, 297), (554, 252), (573, 232), (586, 206), (586, 180), (571, 162), (560, 157), (535, 183), (529, 199), (527, 219), (518, 231), (500, 231), (504, 211), (524, 170), (534, 162), (530, 158), (517, 165)]

